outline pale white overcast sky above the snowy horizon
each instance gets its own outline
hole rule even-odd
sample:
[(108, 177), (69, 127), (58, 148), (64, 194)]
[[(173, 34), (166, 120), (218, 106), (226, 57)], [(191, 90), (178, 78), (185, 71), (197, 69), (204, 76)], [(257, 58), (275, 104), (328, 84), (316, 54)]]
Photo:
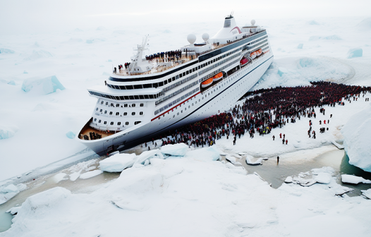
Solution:
[(205, 22), (219, 20), (231, 11), (243, 22), (253, 18), (366, 18), (371, 17), (370, 8), (371, 0), (0, 0), (0, 34)]

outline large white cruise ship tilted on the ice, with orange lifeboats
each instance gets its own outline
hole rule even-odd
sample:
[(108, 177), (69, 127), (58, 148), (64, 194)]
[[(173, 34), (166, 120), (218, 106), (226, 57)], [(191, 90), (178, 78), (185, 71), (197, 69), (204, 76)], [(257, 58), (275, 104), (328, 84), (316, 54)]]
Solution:
[(230, 109), (273, 61), (267, 31), (255, 20), (240, 28), (232, 15), (200, 44), (190, 34), (180, 49), (143, 56), (147, 39), (130, 63), (88, 89), (97, 104), (76, 139), (97, 154), (129, 149)]

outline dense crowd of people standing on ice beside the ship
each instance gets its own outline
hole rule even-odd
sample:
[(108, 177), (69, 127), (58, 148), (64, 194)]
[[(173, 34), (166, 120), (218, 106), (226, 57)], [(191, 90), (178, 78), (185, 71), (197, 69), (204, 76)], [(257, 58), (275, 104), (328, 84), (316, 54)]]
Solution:
[[(275, 87), (248, 92), (242, 106), (236, 105), (224, 113), (176, 130), (169, 130), (154, 138), (152, 143), (154, 144), (154, 140), (161, 139), (162, 145), (184, 142), (189, 146), (204, 147), (216, 144), (221, 137), (227, 139), (232, 137), (233, 145), (235, 145), (237, 138), (241, 138), (241, 135), (245, 133), (248, 133), (250, 138), (254, 138), (255, 133), (266, 135), (271, 133), (273, 128), (281, 128), (286, 123), (295, 123), (302, 117), (315, 118), (317, 107), (320, 108), (320, 113), (325, 114), (324, 106), (343, 106), (346, 103), (358, 101), (361, 96), (365, 96), (366, 92), (371, 92), (371, 87), (329, 82), (311, 84), (310, 86)], [(365, 101), (367, 99), (365, 98)], [(329, 120), (323, 121), (323, 125), (326, 123), (329, 123)], [(309, 138), (316, 138), (311, 120), (309, 126)], [(324, 133), (325, 130), (322, 127), (320, 133)], [(274, 135), (272, 138), (274, 140)], [(285, 134), (280, 134), (280, 139), (282, 139), (282, 144), (288, 144)]]

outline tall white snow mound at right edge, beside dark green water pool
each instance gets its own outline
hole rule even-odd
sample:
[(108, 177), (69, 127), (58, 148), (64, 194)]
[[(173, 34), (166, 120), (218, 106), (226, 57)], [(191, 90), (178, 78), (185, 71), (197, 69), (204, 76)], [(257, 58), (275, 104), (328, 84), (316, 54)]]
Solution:
[(371, 172), (371, 104), (354, 114), (341, 129), (349, 163)]

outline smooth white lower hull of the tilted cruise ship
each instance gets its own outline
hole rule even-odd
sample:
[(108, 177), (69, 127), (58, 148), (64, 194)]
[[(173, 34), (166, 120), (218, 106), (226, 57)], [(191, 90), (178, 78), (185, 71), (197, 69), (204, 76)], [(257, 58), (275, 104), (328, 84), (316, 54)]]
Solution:
[[(119, 133), (97, 140), (80, 140), (97, 154), (107, 154), (114, 150), (126, 150), (155, 135), (206, 119), (230, 109), (233, 104), (245, 95), (257, 83), (273, 61), (272, 51), (267, 51), (252, 63), (239, 69), (218, 83), (197, 92), (186, 102), (181, 102), (166, 112), (166, 116), (153, 116), (150, 122), (140, 123)], [(239, 61), (236, 66), (239, 65)], [(186, 110), (185, 110), (186, 109)], [(160, 119), (159, 119), (160, 118)]]

